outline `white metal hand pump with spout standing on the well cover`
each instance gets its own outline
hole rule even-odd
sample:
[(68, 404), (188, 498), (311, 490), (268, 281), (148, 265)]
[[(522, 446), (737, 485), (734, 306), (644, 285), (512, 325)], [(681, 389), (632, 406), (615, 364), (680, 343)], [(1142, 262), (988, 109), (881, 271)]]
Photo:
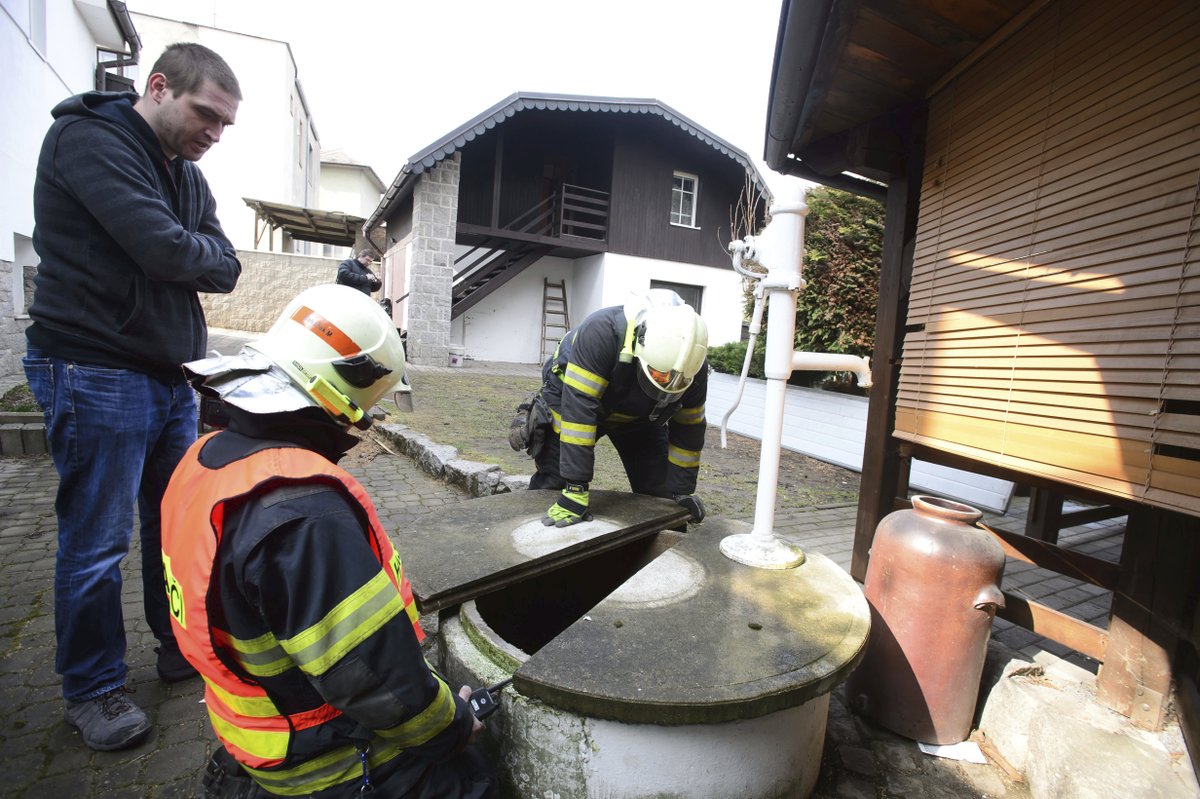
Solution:
[[(767, 354), (763, 365), (767, 401), (763, 409), (754, 527), (750, 533), (726, 536), (721, 540), (720, 548), (731, 560), (760, 569), (793, 569), (804, 563), (804, 552), (781, 541), (774, 533), (787, 378), (797, 368), (852, 371), (862, 385), (870, 385), (870, 367), (865, 358), (794, 352), (796, 298), (805, 284), (800, 265), (804, 258), (804, 217), (808, 212), (809, 206), (798, 198), (781, 200), (772, 206), (770, 223), (760, 236), (746, 236), (744, 241), (730, 244), (733, 268), (746, 277), (760, 280), (757, 292), (770, 302), (772, 313), (767, 319)], [(746, 270), (746, 262), (766, 268), (766, 276)], [(757, 302), (755, 316), (761, 317)], [(749, 359), (748, 352), (746, 362)], [(744, 373), (745, 368), (743, 380)], [(740, 400), (740, 390), (738, 398)]]

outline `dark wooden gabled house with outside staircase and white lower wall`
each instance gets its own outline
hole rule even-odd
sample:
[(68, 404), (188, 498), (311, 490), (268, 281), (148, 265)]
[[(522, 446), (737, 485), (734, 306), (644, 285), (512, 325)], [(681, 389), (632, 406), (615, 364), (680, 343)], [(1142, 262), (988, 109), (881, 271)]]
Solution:
[(748, 184), (767, 193), (745, 154), (658, 101), (516, 94), (414, 155), (366, 228), (386, 227), (418, 364), (450, 347), (535, 362), (564, 317), (656, 286), (721, 343), (742, 330), (725, 245)]

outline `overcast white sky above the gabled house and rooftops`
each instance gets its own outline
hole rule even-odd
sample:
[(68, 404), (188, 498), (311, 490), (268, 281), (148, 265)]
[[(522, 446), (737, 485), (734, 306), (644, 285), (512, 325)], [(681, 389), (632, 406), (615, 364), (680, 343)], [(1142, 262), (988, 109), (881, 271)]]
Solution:
[(128, 0), (286, 41), (323, 149), (389, 184), (515, 91), (650, 97), (762, 162), (781, 0)]

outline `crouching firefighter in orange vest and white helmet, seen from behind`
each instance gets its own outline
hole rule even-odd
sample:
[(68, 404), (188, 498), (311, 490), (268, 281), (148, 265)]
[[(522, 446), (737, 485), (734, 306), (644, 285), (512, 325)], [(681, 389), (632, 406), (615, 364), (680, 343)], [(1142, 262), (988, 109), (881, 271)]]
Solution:
[(320, 286), (240, 354), (184, 368), (229, 415), (163, 499), (172, 624), (222, 744), (204, 795), (496, 795), (470, 691), (426, 663), (400, 555), (335, 465), (377, 401), (410, 407), (391, 320)]

